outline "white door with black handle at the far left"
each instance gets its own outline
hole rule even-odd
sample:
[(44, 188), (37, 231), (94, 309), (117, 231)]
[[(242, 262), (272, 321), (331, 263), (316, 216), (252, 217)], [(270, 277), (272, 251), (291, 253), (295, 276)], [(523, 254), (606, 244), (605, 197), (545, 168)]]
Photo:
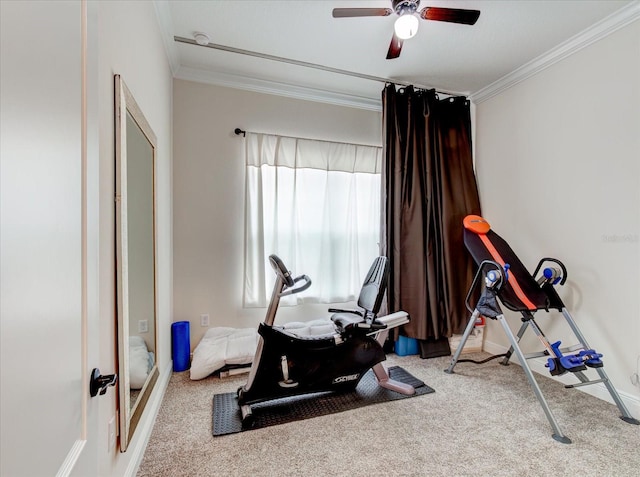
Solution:
[(3, 476), (97, 475), (85, 8), (0, 1)]

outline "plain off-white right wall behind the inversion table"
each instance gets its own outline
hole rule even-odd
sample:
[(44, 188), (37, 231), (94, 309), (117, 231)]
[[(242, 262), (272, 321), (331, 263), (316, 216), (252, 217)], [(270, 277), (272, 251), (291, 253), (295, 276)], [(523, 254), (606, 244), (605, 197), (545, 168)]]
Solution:
[[(565, 263), (563, 300), (617, 389), (640, 402), (630, 380), (640, 356), (640, 22), (476, 111), (483, 215), (532, 271), (542, 257)], [(575, 342), (561, 316), (539, 324), (551, 341)], [(497, 325), (487, 342), (507, 346)]]

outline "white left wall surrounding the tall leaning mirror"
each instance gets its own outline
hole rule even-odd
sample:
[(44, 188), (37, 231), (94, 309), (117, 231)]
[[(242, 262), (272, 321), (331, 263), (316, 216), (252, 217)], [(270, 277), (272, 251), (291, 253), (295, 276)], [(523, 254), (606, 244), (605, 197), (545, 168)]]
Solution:
[[(162, 374), (171, 360), (172, 234), (172, 76), (152, 2), (98, 3), (99, 42), (99, 142), (100, 142), (100, 361), (115, 367), (117, 362), (115, 257), (114, 257), (114, 74), (121, 75), (157, 136), (156, 227), (158, 353)], [(159, 394), (156, 389), (154, 394)], [(101, 398), (98, 436), (100, 475), (125, 475), (142, 447), (144, 428), (151, 425), (143, 416), (126, 453), (108, 451), (107, 423), (115, 414), (117, 395)], [(151, 401), (154, 399), (152, 396)], [(148, 436), (146, 436), (148, 437)], [(142, 448), (143, 450), (143, 448)]]

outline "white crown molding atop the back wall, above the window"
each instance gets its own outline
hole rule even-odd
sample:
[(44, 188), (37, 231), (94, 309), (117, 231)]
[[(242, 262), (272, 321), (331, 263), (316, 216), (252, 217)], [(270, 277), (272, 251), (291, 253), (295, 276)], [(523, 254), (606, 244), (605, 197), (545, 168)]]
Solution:
[[(305, 86), (290, 85), (235, 74), (203, 71), (197, 68), (180, 66), (177, 71), (174, 72), (173, 77), (187, 81), (195, 81), (197, 83), (241, 89), (254, 93), (274, 94), (288, 98), (366, 109), (369, 111), (382, 111), (382, 100), (380, 98), (374, 99), (364, 96), (355, 96), (352, 94), (307, 88)], [(382, 95), (382, 93), (380, 94)]]

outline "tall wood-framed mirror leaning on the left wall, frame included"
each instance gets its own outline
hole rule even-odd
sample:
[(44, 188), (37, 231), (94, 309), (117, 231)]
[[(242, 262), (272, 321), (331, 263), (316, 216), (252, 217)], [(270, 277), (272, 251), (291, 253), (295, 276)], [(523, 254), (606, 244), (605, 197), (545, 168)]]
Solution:
[(116, 295), (120, 451), (133, 436), (158, 379), (156, 306), (156, 136), (120, 75), (115, 76)]

